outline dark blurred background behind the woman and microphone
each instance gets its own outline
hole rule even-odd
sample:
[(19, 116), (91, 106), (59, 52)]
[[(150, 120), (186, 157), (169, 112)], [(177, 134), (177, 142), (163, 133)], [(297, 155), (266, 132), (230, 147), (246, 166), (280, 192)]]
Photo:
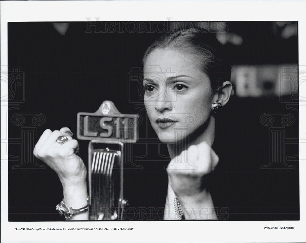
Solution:
[[(183, 26), (216, 35), (233, 67), (235, 92), (216, 125), (220, 163), (212, 187), (222, 193), (213, 195), (215, 205), (226, 206), (230, 220), (299, 219), (297, 21), (14, 22), (8, 24), (9, 221), (64, 220), (55, 210), (62, 200), (58, 177), (32, 150), (45, 129), (67, 126), (76, 136), (76, 114), (95, 112), (104, 100), (143, 118), (125, 165), (130, 205), (162, 205), (154, 193), (138, 200), (142, 191), (166, 193), (160, 184), (170, 161), (142, 103), (141, 59), (160, 34)], [(80, 141), (85, 164), (87, 146)]]

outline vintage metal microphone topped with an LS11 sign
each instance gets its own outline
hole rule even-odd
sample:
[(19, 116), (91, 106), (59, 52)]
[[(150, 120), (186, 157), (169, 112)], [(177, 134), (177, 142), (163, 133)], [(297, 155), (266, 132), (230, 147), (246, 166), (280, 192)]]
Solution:
[(120, 113), (104, 101), (94, 113), (77, 114), (77, 138), (88, 145), (88, 219), (124, 220), (128, 206), (123, 195), (124, 144), (138, 140), (137, 114)]

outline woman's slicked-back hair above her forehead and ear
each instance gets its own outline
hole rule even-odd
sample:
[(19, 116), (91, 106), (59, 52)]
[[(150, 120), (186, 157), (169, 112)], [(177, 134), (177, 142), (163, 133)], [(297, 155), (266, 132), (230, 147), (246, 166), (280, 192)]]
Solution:
[(206, 73), (211, 81), (213, 92), (218, 93), (223, 82), (230, 81), (232, 68), (226, 58), (222, 44), (212, 33), (201, 32), (195, 28), (176, 29), (156, 39), (146, 50), (147, 56), (155, 49), (171, 49), (185, 54), (194, 54), (196, 65)]

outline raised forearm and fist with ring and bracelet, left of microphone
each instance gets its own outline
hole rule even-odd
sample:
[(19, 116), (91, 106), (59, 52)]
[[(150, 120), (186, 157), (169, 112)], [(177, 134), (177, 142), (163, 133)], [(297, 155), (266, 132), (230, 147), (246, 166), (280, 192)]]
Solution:
[[(36, 143), (33, 154), (58, 175), (63, 186), (64, 204), (78, 209), (87, 205), (87, 170), (82, 158), (76, 155), (79, 144), (72, 136), (68, 127), (53, 132), (47, 129)], [(62, 213), (65, 205), (59, 203), (57, 209)], [(68, 220), (88, 220), (87, 212), (73, 215)]]

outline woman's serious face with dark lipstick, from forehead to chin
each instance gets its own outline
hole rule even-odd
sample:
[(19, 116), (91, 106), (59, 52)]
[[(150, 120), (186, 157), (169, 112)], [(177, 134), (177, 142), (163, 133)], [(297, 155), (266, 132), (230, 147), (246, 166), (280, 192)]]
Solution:
[(155, 49), (145, 59), (144, 104), (162, 142), (184, 139), (210, 118), (210, 80), (196, 63), (175, 49)]

